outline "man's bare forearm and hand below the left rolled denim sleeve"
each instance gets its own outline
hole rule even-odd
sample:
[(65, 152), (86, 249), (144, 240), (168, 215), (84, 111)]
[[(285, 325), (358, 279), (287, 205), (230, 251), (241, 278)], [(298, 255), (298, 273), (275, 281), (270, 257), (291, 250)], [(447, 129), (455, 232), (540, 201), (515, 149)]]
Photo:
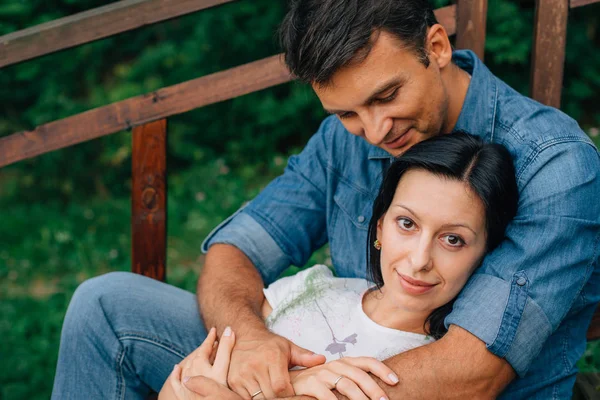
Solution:
[(242, 251), (228, 244), (210, 247), (198, 279), (198, 304), (207, 327), (222, 332), (230, 326), (236, 332), (229, 386), (242, 396), (258, 389), (269, 398), (290, 396), (294, 390), (289, 366), (310, 367), (325, 358), (266, 328), (261, 316), (262, 288), (261, 276)]

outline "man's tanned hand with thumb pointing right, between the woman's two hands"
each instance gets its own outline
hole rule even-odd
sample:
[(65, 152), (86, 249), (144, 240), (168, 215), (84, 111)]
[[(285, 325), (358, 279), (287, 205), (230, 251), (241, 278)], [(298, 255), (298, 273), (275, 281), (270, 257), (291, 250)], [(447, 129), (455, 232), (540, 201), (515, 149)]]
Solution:
[(266, 329), (237, 338), (231, 355), (228, 384), (244, 399), (262, 391), (266, 399), (290, 397), (294, 389), (288, 370), (323, 364), (325, 356), (296, 346)]

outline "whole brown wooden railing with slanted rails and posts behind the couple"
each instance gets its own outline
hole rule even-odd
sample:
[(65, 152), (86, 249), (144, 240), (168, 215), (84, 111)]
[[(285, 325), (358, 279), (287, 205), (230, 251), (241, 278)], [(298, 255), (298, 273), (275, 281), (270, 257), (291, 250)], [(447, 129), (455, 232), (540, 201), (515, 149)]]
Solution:
[[(0, 68), (235, 0), (123, 0), (0, 37)], [(600, 0), (536, 0), (531, 95), (560, 106), (569, 7)], [(456, 47), (484, 55), (487, 0), (435, 11)], [(166, 276), (167, 118), (292, 80), (280, 55), (0, 138), (0, 167), (132, 128), (132, 270)], [(600, 338), (596, 312), (588, 339)]]

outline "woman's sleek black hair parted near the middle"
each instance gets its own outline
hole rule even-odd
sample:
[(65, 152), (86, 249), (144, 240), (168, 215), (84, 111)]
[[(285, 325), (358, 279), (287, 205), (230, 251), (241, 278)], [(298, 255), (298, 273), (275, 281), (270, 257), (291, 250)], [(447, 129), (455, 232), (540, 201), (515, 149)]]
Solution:
[[(390, 207), (400, 179), (410, 170), (464, 182), (481, 199), (485, 208), (486, 253), (504, 239), (507, 225), (517, 213), (518, 189), (515, 169), (508, 150), (499, 144), (485, 144), (465, 133), (440, 135), (411, 147), (390, 166), (373, 204), (367, 237), (367, 270), (377, 288), (383, 286), (377, 238), (377, 222)], [(426, 332), (436, 339), (447, 329), (444, 319), (454, 300), (434, 310), (425, 321)]]

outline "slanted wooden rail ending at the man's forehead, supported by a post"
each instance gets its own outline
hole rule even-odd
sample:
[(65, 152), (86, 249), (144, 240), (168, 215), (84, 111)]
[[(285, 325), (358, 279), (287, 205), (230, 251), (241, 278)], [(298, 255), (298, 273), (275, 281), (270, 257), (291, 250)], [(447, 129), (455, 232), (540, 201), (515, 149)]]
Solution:
[(288, 82), (272, 56), (0, 138), (0, 167)]

